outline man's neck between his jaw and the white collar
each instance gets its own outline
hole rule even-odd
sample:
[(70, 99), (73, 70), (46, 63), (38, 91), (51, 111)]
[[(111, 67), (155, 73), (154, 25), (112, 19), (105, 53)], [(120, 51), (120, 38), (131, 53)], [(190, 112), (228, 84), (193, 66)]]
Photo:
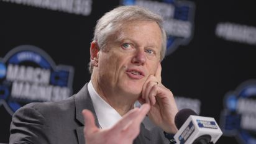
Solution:
[(137, 99), (131, 99), (130, 94), (112, 89), (111, 86), (104, 86), (98, 79), (95, 73), (91, 75), (93, 88), (98, 92), (99, 96), (104, 99), (111, 107), (113, 107), (120, 115), (126, 114), (130, 109), (134, 108)]

